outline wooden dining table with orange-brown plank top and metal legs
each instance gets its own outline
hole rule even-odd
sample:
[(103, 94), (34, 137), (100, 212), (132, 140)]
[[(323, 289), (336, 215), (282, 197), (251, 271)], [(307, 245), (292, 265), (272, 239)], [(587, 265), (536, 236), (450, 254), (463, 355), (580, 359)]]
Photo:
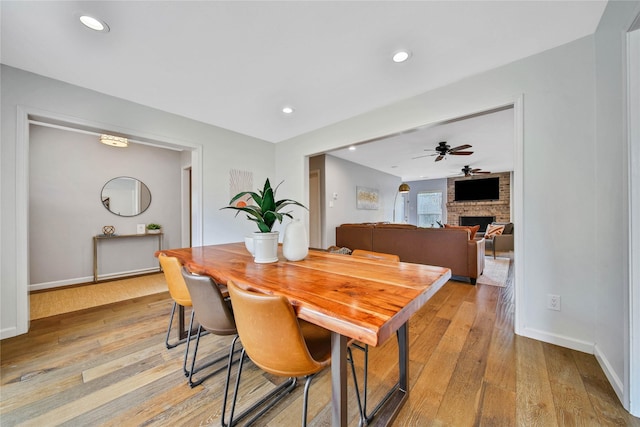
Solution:
[(309, 250), (302, 261), (258, 264), (244, 243), (165, 249), (187, 269), (224, 285), (285, 296), (297, 316), (331, 331), (332, 425), (347, 425), (347, 357), (350, 339), (370, 346), (398, 339), (399, 378), (372, 420), (393, 422), (409, 396), (407, 322), (451, 277), (448, 268), (386, 262)]

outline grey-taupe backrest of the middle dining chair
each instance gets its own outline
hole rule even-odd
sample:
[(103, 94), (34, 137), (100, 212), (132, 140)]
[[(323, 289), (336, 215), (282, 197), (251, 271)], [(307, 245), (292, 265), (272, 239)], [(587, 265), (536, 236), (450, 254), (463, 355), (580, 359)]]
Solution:
[(237, 332), (233, 313), (216, 282), (209, 276), (191, 274), (184, 267), (182, 277), (191, 294), (198, 323), (216, 335), (235, 335)]

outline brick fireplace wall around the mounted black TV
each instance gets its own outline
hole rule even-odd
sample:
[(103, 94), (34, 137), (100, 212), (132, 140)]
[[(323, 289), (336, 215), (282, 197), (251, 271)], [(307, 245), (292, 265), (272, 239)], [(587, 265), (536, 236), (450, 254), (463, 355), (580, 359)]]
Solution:
[[(447, 179), (447, 223), (453, 225), (460, 224), (461, 217), (490, 217), (497, 222), (511, 221), (511, 174), (509, 172), (483, 175), (482, 178), (500, 178), (500, 199), (487, 201), (454, 201), (454, 182), (473, 179), (466, 177)], [(463, 222), (467, 220), (463, 219)], [(483, 222), (486, 222), (484, 220)], [(491, 221), (489, 221), (490, 223)], [(482, 228), (482, 227), (481, 227)], [(486, 225), (484, 227), (486, 229)]]

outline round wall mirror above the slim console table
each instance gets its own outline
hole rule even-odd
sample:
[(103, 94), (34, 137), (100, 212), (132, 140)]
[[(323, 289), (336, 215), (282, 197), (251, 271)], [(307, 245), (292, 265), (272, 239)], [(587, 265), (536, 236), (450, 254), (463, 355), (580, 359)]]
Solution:
[(136, 216), (151, 204), (151, 191), (144, 182), (128, 176), (113, 178), (102, 187), (102, 205), (118, 216)]

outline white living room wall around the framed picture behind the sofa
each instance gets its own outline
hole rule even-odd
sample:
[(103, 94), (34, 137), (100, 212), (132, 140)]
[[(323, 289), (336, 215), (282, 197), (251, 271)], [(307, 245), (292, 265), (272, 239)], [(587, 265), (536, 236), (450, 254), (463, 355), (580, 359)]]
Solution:
[[(336, 244), (336, 227), (340, 224), (392, 220), (399, 177), (330, 155), (325, 156), (325, 171), (325, 247)], [(357, 209), (356, 187), (377, 189), (380, 208)], [(333, 200), (334, 193), (338, 195), (336, 200)], [(333, 201), (333, 207), (329, 207), (330, 201)]]

